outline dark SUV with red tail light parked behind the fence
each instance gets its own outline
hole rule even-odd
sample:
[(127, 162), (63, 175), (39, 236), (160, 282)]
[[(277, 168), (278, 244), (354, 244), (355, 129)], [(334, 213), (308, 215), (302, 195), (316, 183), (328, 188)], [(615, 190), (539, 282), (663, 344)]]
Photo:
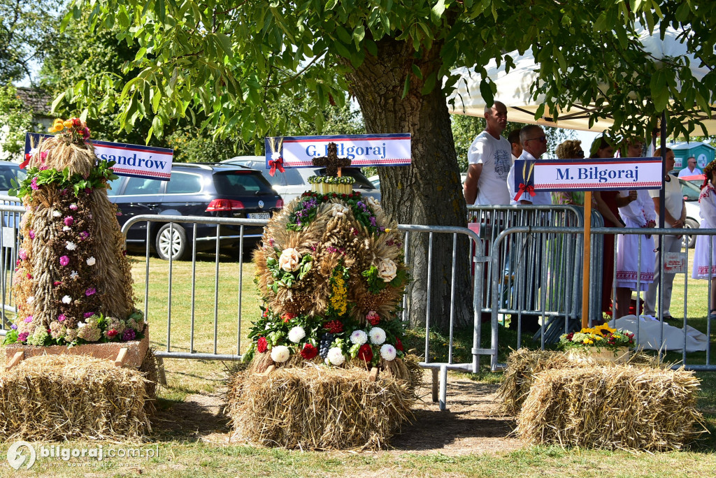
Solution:
[[(107, 190), (110, 201), (121, 211), (123, 225), (140, 214), (199, 215), (222, 218), (269, 219), (284, 201), (271, 189), (260, 171), (236, 165), (174, 163), (169, 181), (120, 176)], [(193, 225), (149, 223), (151, 245), (165, 260), (189, 258)], [(221, 248), (238, 252), (239, 226), (221, 226)], [(263, 229), (244, 226), (244, 250), (261, 238)], [(140, 221), (127, 231), (127, 248), (144, 248), (147, 223)], [(196, 250), (216, 248), (216, 225), (196, 225)]]

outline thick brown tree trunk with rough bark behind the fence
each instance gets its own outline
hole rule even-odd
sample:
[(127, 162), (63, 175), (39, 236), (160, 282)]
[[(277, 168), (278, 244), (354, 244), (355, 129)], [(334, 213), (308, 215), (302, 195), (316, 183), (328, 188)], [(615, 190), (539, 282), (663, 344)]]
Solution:
[[(441, 44), (435, 43), (416, 59), (408, 42), (382, 39), (378, 55), (367, 55), (348, 74), (352, 94), (363, 112), (368, 133), (410, 132), (412, 165), (379, 167), (382, 204), (400, 224), (466, 226), (467, 208), (460, 183), (450, 114), (441, 79), (429, 94), (420, 94), (423, 81), (412, 73), (415, 64), (427, 79), (437, 72)], [(405, 77), (410, 89), (402, 97)], [(455, 326), (472, 323), (472, 278), (468, 241), (458, 236), (455, 284)], [(424, 326), (427, 314), (427, 273), (431, 268), (430, 324), (442, 329), (450, 323), (453, 234), (433, 235), (432, 263), (428, 263), (427, 233), (411, 233), (408, 265), (410, 323)]]

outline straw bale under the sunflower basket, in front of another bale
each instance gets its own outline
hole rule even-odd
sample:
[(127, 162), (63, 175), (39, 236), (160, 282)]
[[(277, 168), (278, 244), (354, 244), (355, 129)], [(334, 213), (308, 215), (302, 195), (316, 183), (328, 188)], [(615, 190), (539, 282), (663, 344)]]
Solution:
[(550, 369), (536, 375), (517, 419), (529, 444), (661, 452), (704, 431), (693, 372), (639, 366)]

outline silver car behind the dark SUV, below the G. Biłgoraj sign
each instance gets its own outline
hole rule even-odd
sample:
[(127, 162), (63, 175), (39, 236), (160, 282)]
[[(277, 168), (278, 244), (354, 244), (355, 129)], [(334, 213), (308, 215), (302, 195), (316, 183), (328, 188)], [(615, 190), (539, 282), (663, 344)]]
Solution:
[[(311, 190), (309, 177), (326, 174), (324, 167), (286, 167), (284, 168), (285, 172), (276, 172), (274, 176), (271, 176), (269, 170), (266, 169), (266, 158), (263, 156), (237, 156), (231, 160), (222, 161), (222, 164), (243, 165), (261, 171), (263, 177), (271, 182), (274, 190), (281, 194), (286, 204), (299, 197), (301, 193)], [(354, 177), (356, 182), (353, 185), (353, 190), (359, 191), (364, 196), (380, 200), (380, 190), (365, 177), (358, 167), (344, 167), (341, 172), (344, 176)]]

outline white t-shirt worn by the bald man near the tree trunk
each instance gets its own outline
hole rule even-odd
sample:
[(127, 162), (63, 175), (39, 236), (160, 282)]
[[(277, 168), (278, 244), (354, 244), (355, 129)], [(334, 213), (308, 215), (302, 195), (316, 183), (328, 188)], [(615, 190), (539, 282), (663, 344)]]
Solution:
[(476, 205), (500, 205), (510, 203), (507, 189), (507, 175), (512, 165), (512, 145), (501, 137), (495, 140), (493, 135), (483, 131), (473, 141), (468, 150), (470, 165), (483, 165), (478, 179)]

